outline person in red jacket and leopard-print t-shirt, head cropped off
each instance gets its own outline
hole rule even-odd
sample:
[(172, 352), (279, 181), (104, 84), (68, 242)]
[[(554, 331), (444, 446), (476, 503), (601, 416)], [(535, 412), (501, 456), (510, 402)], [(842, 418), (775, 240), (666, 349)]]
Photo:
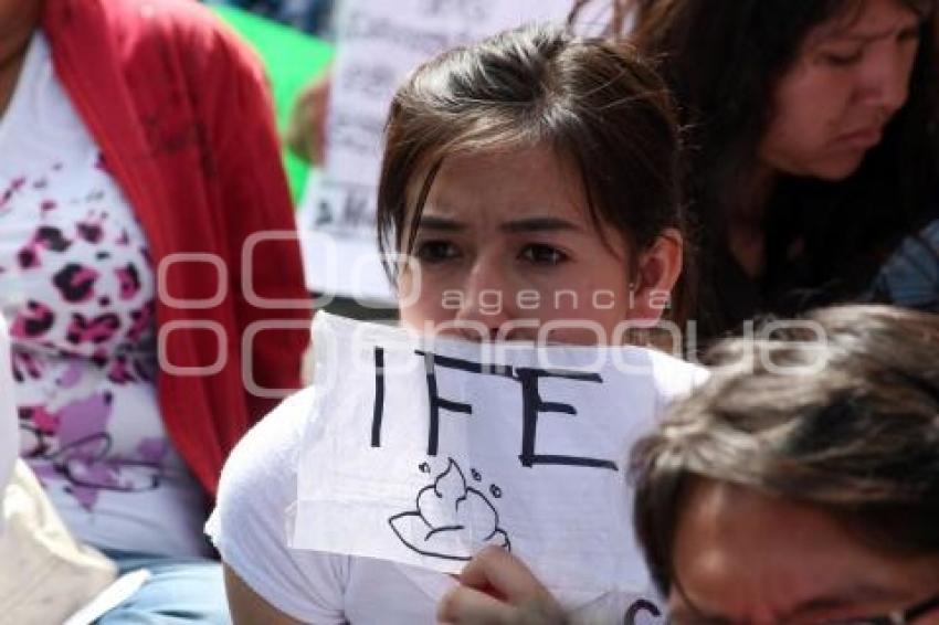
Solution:
[[(154, 572), (103, 623), (228, 621), (202, 527), (229, 451), (274, 403), (245, 388), (242, 335), (308, 316), (232, 288), (306, 299), (296, 242), (260, 245), (242, 273), (252, 235), (294, 223), (265, 89), (197, 2), (0, 0), (20, 456), (77, 538)], [(259, 335), (257, 384), (299, 386), (307, 342)]]

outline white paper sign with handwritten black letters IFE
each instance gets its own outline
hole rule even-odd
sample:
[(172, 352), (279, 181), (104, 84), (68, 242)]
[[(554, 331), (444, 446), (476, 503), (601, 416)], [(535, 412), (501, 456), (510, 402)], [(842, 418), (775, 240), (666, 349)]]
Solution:
[(293, 544), (458, 572), (487, 544), (587, 601), (648, 587), (629, 449), (700, 368), (640, 348), (432, 341), (319, 314)]

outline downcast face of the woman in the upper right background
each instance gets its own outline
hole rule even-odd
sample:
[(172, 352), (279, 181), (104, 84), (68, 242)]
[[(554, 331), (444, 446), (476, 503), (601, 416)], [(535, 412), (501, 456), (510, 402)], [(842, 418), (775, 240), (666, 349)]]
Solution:
[(774, 96), (760, 160), (794, 176), (842, 180), (906, 103), (920, 20), (900, 0), (848, 3), (812, 29)]

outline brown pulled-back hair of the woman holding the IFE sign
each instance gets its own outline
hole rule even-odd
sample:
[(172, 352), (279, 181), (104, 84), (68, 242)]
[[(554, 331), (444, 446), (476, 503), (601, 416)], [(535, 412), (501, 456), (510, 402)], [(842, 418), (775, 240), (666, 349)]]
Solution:
[[(445, 52), (398, 89), (378, 186), (383, 255), (411, 252), (444, 159), (538, 145), (572, 166), (593, 223), (615, 227), (633, 261), (665, 229), (684, 232), (677, 121), (664, 83), (630, 50), (532, 25)], [(676, 287), (673, 318), (689, 299), (687, 286)]]

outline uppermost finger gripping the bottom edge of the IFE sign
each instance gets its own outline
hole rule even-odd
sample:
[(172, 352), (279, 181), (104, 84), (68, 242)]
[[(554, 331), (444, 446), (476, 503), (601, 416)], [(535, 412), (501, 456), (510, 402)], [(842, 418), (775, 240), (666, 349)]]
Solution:
[(495, 590), (515, 604), (550, 596), (521, 560), (498, 547), (478, 552), (463, 569), (460, 582), (476, 590)]

